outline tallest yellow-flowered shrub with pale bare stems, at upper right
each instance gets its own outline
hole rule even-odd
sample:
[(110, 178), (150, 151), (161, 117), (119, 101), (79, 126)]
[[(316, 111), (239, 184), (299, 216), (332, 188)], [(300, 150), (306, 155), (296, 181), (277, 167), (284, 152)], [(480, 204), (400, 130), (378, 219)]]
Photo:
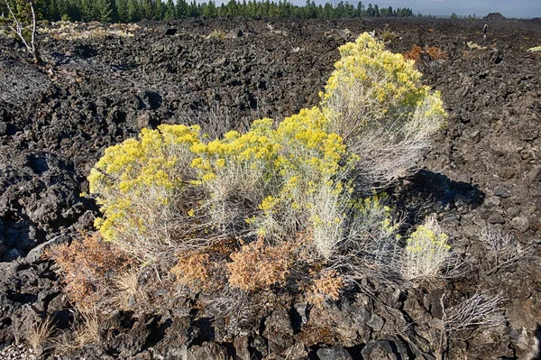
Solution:
[(320, 94), (329, 130), (358, 155), (357, 177), (384, 189), (415, 170), (429, 138), (445, 125), (438, 92), (421, 84), (413, 60), (363, 33), (340, 47), (341, 59)]

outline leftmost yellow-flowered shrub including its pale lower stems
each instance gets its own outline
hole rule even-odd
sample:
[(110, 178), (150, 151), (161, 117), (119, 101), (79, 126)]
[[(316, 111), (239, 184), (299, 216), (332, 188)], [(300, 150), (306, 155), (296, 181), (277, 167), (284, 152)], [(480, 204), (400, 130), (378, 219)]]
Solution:
[(105, 150), (88, 176), (104, 215), (95, 225), (105, 240), (119, 240), (142, 257), (154, 245), (170, 244), (195, 177), (189, 149), (197, 143), (198, 126), (160, 125)]

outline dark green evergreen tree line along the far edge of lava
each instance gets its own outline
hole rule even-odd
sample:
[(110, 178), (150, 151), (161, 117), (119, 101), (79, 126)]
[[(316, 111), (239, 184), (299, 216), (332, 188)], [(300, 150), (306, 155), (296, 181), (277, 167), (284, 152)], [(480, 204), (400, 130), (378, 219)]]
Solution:
[[(22, 0), (9, 1), (13, 1), (14, 8), (17, 3), (22, 4)], [(2, 7), (3, 3), (0, 1), (0, 13), (7, 14)], [(197, 3), (195, 0), (190, 3), (187, 0), (39, 0), (36, 6), (43, 20), (102, 23), (133, 23), (143, 19), (171, 20), (197, 16), (343, 18), (414, 15), (407, 7), (380, 8), (378, 5), (365, 6), (362, 2), (352, 5), (344, 1), (336, 5), (316, 5), (313, 0), (307, 0), (304, 6), (282, 0), (278, 3), (270, 0), (229, 0), (222, 5), (216, 5), (213, 0), (208, 3)]]

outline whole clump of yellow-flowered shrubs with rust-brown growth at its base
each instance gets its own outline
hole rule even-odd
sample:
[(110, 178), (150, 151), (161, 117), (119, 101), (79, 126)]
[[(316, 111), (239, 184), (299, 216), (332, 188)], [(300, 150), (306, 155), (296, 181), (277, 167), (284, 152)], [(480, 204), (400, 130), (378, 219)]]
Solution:
[[(203, 290), (268, 290), (295, 274), (336, 300), (366, 269), (398, 272), (404, 251), (387, 197), (356, 198), (414, 165), (408, 146), (422, 149), (445, 113), (413, 62), (367, 34), (340, 51), (320, 107), (213, 141), (196, 125), (160, 125), (106, 149), (88, 177), (100, 233), (144, 262), (174, 246), (179, 282)], [(445, 243), (429, 230), (411, 235), (408, 259)]]

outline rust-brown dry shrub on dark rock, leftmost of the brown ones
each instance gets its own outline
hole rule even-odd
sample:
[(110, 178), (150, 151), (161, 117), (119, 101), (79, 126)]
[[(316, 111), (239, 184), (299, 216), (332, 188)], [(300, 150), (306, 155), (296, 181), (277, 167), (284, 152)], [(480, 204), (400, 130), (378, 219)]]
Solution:
[(64, 291), (81, 309), (92, 309), (107, 291), (115, 273), (133, 265), (124, 252), (105, 242), (99, 233), (83, 235), (70, 245), (51, 246), (43, 254), (60, 268)]

